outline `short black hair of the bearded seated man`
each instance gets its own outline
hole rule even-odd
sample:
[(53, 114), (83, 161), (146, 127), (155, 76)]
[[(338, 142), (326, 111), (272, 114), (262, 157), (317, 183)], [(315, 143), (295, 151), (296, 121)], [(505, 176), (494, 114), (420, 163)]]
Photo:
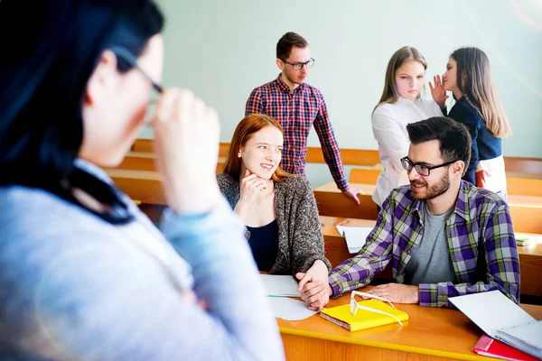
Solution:
[(410, 143), (419, 144), (437, 140), (444, 162), (463, 161), (464, 171), (471, 161), (471, 134), (466, 126), (447, 116), (434, 116), (406, 125)]

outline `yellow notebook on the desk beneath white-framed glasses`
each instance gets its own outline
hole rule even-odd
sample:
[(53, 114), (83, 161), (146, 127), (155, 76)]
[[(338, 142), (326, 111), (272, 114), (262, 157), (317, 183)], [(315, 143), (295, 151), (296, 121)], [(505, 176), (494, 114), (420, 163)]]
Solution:
[[(400, 319), (402, 322), (408, 319), (406, 312), (394, 309), (382, 301), (368, 300), (360, 301), (358, 303), (360, 305), (370, 307), (371, 309), (382, 310), (395, 315), (397, 319)], [(332, 307), (331, 309), (322, 310), (320, 312), (320, 316), (345, 329), (348, 329), (349, 331), (358, 331), (360, 329), (370, 329), (377, 326), (388, 325), (390, 323), (397, 323), (397, 319), (394, 319), (391, 316), (371, 312), (369, 310), (358, 310), (356, 312), (356, 316), (352, 316), (350, 313), (350, 303), (342, 306)]]

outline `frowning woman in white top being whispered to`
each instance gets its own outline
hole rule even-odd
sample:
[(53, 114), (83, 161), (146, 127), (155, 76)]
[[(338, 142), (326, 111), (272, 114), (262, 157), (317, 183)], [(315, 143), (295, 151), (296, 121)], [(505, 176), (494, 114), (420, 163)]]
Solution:
[(406, 125), (443, 115), (434, 100), (422, 98), (425, 69), (427, 63), (424, 57), (410, 46), (396, 51), (388, 62), (384, 91), (371, 119), (383, 166), (373, 194), (378, 209), (391, 190), (408, 184), (400, 161), (408, 153), (410, 144)]

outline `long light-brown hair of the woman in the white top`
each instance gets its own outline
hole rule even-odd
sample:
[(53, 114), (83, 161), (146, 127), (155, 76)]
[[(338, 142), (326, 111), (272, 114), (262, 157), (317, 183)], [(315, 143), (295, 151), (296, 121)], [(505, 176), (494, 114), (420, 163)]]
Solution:
[[(424, 69), (427, 69), (427, 62), (425, 61), (424, 56), (417, 51), (416, 48), (412, 46), (404, 46), (398, 51), (396, 51), (391, 59), (388, 61), (388, 69), (386, 69), (386, 79), (384, 80), (384, 90), (382, 91), (382, 97), (378, 101), (375, 109), (382, 103), (393, 104), (397, 102), (399, 98), (399, 92), (397, 90), (397, 85), (395, 81), (396, 71), (403, 65), (406, 61), (418, 61), (424, 66)], [(421, 93), (418, 94), (418, 98), (421, 97)]]

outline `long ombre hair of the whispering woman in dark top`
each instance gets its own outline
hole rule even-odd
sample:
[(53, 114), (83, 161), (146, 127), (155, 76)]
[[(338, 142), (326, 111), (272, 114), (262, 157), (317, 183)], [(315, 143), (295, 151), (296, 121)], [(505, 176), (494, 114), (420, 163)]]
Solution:
[(453, 51), (450, 57), (457, 62), (458, 88), (478, 111), (491, 133), (498, 138), (512, 134), (491, 79), (490, 59), (485, 52), (478, 48), (461, 48)]

